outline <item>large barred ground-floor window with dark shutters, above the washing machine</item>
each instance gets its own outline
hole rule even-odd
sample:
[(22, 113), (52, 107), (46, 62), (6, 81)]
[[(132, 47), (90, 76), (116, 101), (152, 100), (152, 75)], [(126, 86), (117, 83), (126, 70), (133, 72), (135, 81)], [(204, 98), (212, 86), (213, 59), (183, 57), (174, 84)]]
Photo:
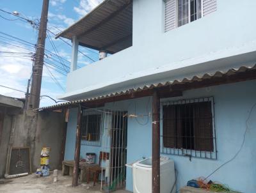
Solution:
[(216, 159), (213, 98), (162, 102), (161, 153)]

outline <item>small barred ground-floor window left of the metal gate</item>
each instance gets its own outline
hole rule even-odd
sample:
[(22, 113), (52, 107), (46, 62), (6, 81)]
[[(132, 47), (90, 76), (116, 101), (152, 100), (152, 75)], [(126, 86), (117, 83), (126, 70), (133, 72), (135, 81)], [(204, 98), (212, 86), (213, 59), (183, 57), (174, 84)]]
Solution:
[(81, 123), (81, 144), (100, 146), (102, 115), (96, 111), (83, 111)]

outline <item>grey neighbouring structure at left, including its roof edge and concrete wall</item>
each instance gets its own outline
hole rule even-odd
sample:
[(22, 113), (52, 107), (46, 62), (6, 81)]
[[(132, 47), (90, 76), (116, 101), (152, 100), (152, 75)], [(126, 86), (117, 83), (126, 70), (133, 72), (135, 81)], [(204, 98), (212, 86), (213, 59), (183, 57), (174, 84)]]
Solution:
[(18, 159), (22, 163), (29, 162), (31, 172), (35, 172), (40, 168), (42, 147), (50, 147), (51, 168), (61, 168), (63, 135), (67, 132), (65, 114), (26, 111), (24, 105), (25, 99), (0, 95), (0, 178), (3, 178), (4, 174), (10, 174), (10, 171), (11, 174), (23, 171), (23, 165), (17, 167), (16, 162), (12, 160), (12, 150), (29, 148), (30, 160), (26, 153), (21, 153)]

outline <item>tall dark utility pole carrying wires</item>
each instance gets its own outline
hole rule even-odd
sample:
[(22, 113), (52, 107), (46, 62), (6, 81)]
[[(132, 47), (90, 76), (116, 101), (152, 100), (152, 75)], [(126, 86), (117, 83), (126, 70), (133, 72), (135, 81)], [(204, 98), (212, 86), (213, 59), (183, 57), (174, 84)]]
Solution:
[(38, 32), (37, 44), (36, 44), (35, 65), (33, 66), (31, 91), (29, 96), (29, 109), (38, 108), (40, 103), (48, 7), (49, 7), (49, 0), (44, 0), (41, 19), (40, 19), (40, 27)]

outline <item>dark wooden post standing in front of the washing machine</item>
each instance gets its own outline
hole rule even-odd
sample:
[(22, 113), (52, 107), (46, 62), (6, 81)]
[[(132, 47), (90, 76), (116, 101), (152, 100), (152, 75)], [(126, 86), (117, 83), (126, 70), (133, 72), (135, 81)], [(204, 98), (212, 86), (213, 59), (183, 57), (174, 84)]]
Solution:
[(160, 193), (160, 100), (157, 90), (152, 104), (152, 193)]

